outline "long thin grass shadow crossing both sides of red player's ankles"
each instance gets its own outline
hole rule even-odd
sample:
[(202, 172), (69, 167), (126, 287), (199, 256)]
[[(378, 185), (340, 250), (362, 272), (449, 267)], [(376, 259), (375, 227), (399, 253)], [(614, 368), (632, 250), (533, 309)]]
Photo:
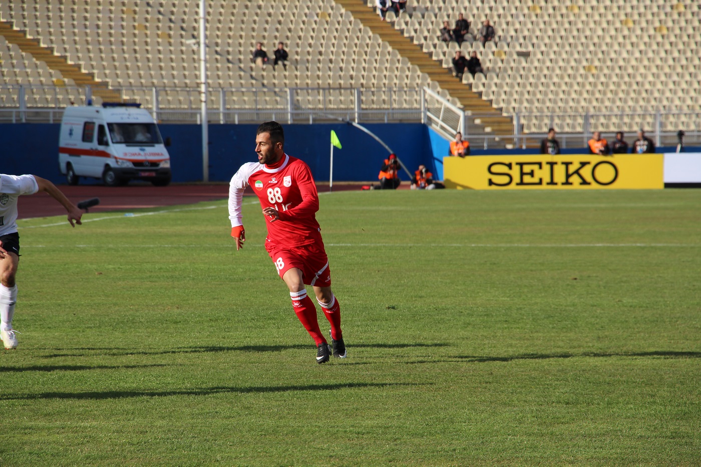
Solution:
[[(348, 344), (348, 348), (426, 348), (426, 347), (447, 347), (449, 344), (435, 343), (423, 344), (407, 343), (407, 344)], [(289, 345), (250, 345), (250, 346), (192, 346), (192, 347), (176, 347), (166, 348), (163, 350), (143, 350), (135, 348), (56, 348), (55, 350), (72, 350), (72, 351), (100, 351), (102, 356), (127, 356), (127, 355), (168, 355), (171, 353), (210, 353), (210, 352), (283, 352), (287, 350), (308, 350), (313, 349), (312, 344), (289, 344)], [(83, 357), (82, 353), (51, 353), (41, 356), (41, 358), (58, 358), (58, 357)]]

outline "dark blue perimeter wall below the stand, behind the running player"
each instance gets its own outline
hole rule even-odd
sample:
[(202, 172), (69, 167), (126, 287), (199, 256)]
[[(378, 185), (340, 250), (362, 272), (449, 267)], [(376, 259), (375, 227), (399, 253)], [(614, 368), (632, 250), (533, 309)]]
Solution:
[[(0, 172), (31, 173), (64, 183), (58, 170), (57, 123), (0, 124)], [(413, 174), (419, 164), (443, 180), (443, 157), (449, 142), (421, 123), (375, 123), (365, 127), (375, 133), (400, 157)], [(159, 125), (163, 138), (170, 137), (173, 182), (202, 180), (202, 130), (198, 125)], [(365, 132), (346, 123), (283, 125), (285, 151), (306, 162), (318, 182), (329, 180), (331, 130), (336, 132), (343, 149), (334, 148), (334, 181), (376, 182), (383, 160), (388, 154), (381, 144)], [(210, 181), (228, 182), (245, 162), (257, 161), (255, 134), (257, 125), (210, 125)], [(687, 148), (691, 151), (693, 148)], [(676, 147), (660, 147), (658, 152), (674, 152)], [(701, 149), (699, 149), (701, 151)], [(564, 154), (587, 154), (585, 148), (563, 149)], [(472, 150), (473, 156), (496, 154), (538, 154), (538, 149)], [(402, 180), (409, 180), (400, 172)], [(95, 182), (89, 180), (88, 183)], [(83, 181), (85, 183), (85, 181)]]

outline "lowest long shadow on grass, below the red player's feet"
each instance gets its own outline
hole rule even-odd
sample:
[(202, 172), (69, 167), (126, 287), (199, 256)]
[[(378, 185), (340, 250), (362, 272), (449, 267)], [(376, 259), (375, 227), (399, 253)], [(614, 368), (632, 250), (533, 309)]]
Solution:
[(249, 393), (286, 393), (290, 391), (334, 391), (355, 388), (383, 388), (388, 386), (426, 386), (426, 383), (346, 383), (346, 384), (307, 384), (290, 386), (216, 386), (202, 389), (180, 389), (173, 391), (84, 391), (76, 393), (47, 392), (25, 395), (0, 395), (0, 400), (39, 400), (39, 399), (123, 399), (156, 398), (173, 395), (212, 395)]

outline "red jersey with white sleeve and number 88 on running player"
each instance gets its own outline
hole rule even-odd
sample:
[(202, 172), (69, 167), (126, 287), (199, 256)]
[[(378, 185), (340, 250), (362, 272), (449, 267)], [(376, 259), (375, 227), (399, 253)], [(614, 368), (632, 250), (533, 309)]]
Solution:
[(323, 245), (315, 216), (319, 210), (319, 195), (306, 163), (285, 154), (283, 164), (278, 168), (268, 168), (257, 162), (241, 165), (229, 184), (229, 219), (232, 227), (243, 225), (241, 201), (243, 191), (249, 185), (258, 196), (261, 208), (270, 207), (280, 213), (275, 222), (270, 222), (271, 219), (266, 216), (266, 248), (311, 243)]

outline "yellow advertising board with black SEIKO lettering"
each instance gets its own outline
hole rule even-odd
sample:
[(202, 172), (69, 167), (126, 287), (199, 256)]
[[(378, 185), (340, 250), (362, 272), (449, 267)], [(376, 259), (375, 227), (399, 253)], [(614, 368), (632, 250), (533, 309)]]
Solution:
[(446, 188), (662, 189), (662, 154), (534, 154), (443, 159)]

